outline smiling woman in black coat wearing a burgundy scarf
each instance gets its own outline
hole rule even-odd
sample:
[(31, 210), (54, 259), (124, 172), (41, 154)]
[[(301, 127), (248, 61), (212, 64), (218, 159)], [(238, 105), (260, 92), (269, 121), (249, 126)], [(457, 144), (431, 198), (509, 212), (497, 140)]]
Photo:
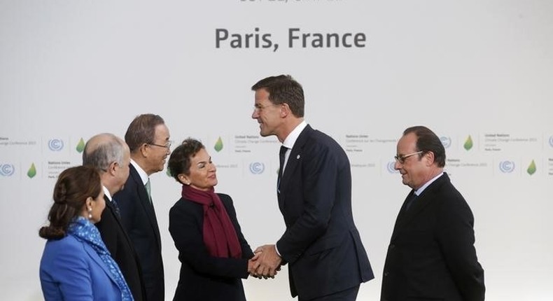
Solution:
[(169, 211), (169, 232), (182, 264), (173, 300), (246, 300), (241, 279), (248, 277), (253, 252), (232, 199), (214, 192), (216, 167), (204, 145), (183, 141), (169, 158), (169, 170), (183, 185)]

